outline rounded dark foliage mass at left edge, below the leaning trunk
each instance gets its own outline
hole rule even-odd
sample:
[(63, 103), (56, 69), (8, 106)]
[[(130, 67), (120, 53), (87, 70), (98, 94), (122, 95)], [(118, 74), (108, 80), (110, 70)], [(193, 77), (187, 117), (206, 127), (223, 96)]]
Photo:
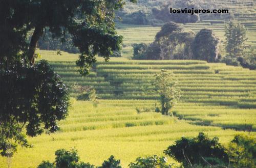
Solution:
[(47, 61), (35, 66), (17, 62), (0, 70), (0, 150), (12, 156), (18, 144), (31, 147), (25, 135), (58, 130), (68, 115), (68, 88)]

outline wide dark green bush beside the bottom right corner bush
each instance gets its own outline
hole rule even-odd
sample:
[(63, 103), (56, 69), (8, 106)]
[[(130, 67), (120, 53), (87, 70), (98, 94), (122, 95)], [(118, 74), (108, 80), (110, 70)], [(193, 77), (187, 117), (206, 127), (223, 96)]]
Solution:
[(184, 165), (227, 165), (229, 163), (225, 148), (219, 143), (219, 138), (210, 139), (200, 132), (198, 137), (181, 139), (175, 145), (169, 146), (164, 153)]

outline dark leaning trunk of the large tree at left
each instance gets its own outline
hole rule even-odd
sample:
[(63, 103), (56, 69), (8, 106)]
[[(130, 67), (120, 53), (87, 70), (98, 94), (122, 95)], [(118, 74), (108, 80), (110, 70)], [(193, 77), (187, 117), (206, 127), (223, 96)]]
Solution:
[(36, 50), (37, 42), (39, 38), (42, 36), (43, 32), (44, 32), (43, 26), (36, 26), (34, 33), (31, 37), (29, 51), (28, 51), (28, 58), (31, 64), (35, 64), (35, 50)]

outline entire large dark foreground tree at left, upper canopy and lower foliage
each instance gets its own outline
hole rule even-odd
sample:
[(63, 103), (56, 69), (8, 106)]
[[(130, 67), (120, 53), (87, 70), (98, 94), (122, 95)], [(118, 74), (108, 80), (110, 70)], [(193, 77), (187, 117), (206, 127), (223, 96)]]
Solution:
[[(135, 2), (135, 0), (131, 0)], [(30, 147), (30, 136), (58, 130), (67, 116), (67, 87), (46, 61), (35, 64), (36, 45), (45, 30), (65, 41), (72, 36), (80, 51), (76, 62), (89, 73), (95, 55), (109, 59), (122, 37), (114, 26), (115, 10), (124, 1), (3, 0), (0, 1), (0, 151), (12, 156), (17, 145)], [(32, 33), (31, 39), (28, 39)]]

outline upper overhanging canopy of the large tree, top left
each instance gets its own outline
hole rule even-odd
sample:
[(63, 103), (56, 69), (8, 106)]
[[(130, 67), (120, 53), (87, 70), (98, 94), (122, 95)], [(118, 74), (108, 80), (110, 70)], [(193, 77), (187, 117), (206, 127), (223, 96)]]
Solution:
[[(122, 37), (115, 31), (114, 17), (123, 5), (122, 0), (3, 0), (0, 2), (0, 61), (10, 63), (17, 53), (23, 52), (35, 64), (38, 40), (49, 27), (49, 32), (63, 41), (66, 33), (72, 36), (74, 46), (81, 52), (76, 64), (79, 72), (86, 75), (97, 53), (107, 61), (112, 51), (120, 48)], [(29, 31), (33, 34), (28, 43)]]

